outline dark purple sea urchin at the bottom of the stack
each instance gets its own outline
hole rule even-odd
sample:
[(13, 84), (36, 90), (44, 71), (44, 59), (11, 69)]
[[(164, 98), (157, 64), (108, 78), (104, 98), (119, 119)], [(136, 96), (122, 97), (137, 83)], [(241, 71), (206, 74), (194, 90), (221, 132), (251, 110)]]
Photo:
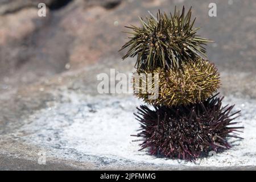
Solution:
[(186, 160), (198, 158), (201, 152), (230, 148), (226, 138), (240, 138), (231, 133), (243, 127), (233, 126), (240, 111), (230, 114), (233, 106), (222, 107), (222, 98), (214, 96), (189, 106), (154, 106), (154, 110), (142, 105), (135, 114), (142, 131), (133, 136), (143, 137), (141, 150), (149, 148), (151, 155)]

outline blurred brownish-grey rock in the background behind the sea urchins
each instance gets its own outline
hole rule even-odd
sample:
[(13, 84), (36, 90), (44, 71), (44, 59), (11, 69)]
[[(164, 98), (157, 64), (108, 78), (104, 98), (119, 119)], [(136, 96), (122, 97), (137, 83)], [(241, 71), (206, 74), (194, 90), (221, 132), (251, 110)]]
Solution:
[[(48, 6), (47, 16), (39, 17), (38, 3)], [(228, 76), (227, 81), (241, 81), (236, 91), (255, 96), (255, 11), (254, 1), (215, 1), (217, 17), (208, 16), (208, 1), (0, 1), (0, 76), (1, 92), (98, 64), (106, 57), (115, 62), (124, 52), (118, 49), (127, 40), (123, 26), (138, 24), (138, 16), (158, 9), (171, 11), (174, 6), (193, 7), (200, 34), (215, 42), (209, 44), (208, 56), (220, 71), (242, 72), (243, 80)], [(118, 24), (114, 25), (117, 21)], [(115, 64), (115, 63), (113, 63)], [(118, 63), (116, 63), (118, 64)], [(131, 63), (133, 65), (133, 63)], [(224, 75), (223, 75), (224, 76)], [(226, 80), (229, 79), (229, 80)], [(225, 82), (224, 82), (225, 83)]]

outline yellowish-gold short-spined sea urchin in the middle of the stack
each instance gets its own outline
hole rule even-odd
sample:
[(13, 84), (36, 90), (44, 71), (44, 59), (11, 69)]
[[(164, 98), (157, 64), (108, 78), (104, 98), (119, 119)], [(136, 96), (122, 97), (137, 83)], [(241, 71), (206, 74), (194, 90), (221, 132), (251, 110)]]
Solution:
[[(139, 84), (135, 84), (135, 78), (138, 79), (138, 75), (134, 73), (134, 95), (152, 105), (188, 105), (207, 100), (220, 87), (220, 74), (213, 63), (197, 58), (193, 62), (183, 63), (182, 66), (183, 71), (174, 68), (156, 68), (154, 71), (138, 69), (135, 73), (138, 73), (139, 78), (143, 74), (147, 78), (151, 74), (153, 78), (155, 74), (159, 75), (159, 94), (155, 100), (148, 99), (149, 96), (154, 96), (156, 93), (154, 90), (156, 81), (149, 82), (146, 80), (146, 85), (151, 85), (147, 86), (146, 92), (143, 92), (145, 89), (142, 80), (139, 80)], [(136, 89), (137, 93), (135, 93)]]

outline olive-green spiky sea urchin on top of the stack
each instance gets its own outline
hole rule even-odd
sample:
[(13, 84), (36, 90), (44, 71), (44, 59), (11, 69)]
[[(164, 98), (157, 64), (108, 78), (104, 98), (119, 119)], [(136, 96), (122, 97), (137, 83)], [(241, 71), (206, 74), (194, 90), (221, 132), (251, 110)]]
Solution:
[(195, 19), (191, 20), (191, 8), (185, 15), (185, 9), (175, 11), (168, 16), (160, 11), (157, 16), (150, 14), (146, 19), (139, 18), (142, 27), (127, 27), (129, 42), (122, 48), (129, 47), (126, 57), (138, 55), (135, 67), (140, 69), (179, 68), (182, 61), (193, 61), (195, 57), (205, 56), (205, 45), (211, 42), (209, 39), (200, 38), (196, 35), (199, 28), (193, 28)]

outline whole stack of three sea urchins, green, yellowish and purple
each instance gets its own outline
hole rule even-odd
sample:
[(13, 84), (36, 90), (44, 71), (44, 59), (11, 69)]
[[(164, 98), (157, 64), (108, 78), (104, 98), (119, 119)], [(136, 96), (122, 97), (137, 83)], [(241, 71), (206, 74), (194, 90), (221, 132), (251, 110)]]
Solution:
[[(213, 96), (220, 86), (220, 74), (204, 58), (203, 45), (210, 40), (196, 34), (199, 28), (193, 28), (191, 9), (185, 14), (184, 7), (181, 13), (175, 7), (173, 15), (159, 11), (156, 17), (150, 14), (140, 20), (142, 27), (128, 27), (132, 36), (121, 49), (129, 47), (123, 59), (138, 55), (134, 94), (154, 106), (137, 107), (141, 133), (133, 136), (143, 138), (141, 150), (194, 160), (202, 152), (230, 148), (227, 138), (240, 138), (231, 133), (243, 128), (232, 122), (240, 111), (232, 113), (234, 106), (223, 107), (223, 98)], [(135, 84), (135, 75), (157, 75), (157, 79)], [(157, 97), (152, 99), (153, 95)]]

